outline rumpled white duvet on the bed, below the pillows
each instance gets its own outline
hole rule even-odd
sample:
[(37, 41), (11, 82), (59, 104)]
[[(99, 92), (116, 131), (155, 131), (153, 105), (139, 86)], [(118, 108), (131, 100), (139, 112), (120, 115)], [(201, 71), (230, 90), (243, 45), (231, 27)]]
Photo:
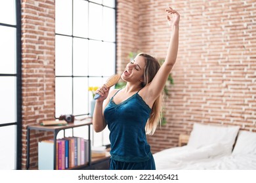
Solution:
[(153, 155), (157, 170), (256, 170), (255, 154), (209, 156), (188, 146), (169, 148)]

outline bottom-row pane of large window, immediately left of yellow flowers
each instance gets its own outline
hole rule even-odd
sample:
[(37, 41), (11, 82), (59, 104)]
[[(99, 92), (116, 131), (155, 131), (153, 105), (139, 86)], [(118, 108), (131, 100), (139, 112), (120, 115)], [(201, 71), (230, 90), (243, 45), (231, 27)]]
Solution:
[(74, 115), (88, 113), (88, 78), (74, 78)]

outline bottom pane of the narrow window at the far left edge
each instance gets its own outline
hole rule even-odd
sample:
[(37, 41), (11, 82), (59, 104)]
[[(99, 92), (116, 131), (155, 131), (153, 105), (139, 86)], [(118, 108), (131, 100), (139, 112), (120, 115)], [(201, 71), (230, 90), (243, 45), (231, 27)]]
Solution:
[(16, 169), (16, 125), (0, 127), (0, 144), (0, 169)]

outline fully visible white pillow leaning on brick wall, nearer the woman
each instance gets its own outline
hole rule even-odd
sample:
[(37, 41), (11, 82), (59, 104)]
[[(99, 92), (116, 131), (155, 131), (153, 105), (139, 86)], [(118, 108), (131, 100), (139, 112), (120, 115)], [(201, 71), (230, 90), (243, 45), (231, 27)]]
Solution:
[(239, 128), (239, 126), (194, 123), (190, 138), (188, 139), (188, 146), (201, 148), (210, 144), (220, 143), (226, 148), (226, 153), (230, 154)]

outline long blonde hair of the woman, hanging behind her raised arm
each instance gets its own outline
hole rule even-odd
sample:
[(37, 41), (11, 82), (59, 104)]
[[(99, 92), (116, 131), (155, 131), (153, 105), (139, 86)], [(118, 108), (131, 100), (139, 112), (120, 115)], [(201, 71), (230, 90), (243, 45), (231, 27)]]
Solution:
[[(146, 66), (144, 68), (144, 80), (142, 82), (142, 87), (146, 86), (148, 83), (152, 82), (156, 73), (160, 69), (160, 63), (158, 60), (148, 54), (140, 53), (138, 56), (143, 56), (145, 58)], [(156, 131), (156, 127), (161, 123), (161, 110), (162, 110), (162, 101), (163, 101), (163, 92), (158, 96), (156, 101), (152, 106), (152, 110), (150, 113), (150, 118), (146, 123), (146, 134), (153, 135)]]

